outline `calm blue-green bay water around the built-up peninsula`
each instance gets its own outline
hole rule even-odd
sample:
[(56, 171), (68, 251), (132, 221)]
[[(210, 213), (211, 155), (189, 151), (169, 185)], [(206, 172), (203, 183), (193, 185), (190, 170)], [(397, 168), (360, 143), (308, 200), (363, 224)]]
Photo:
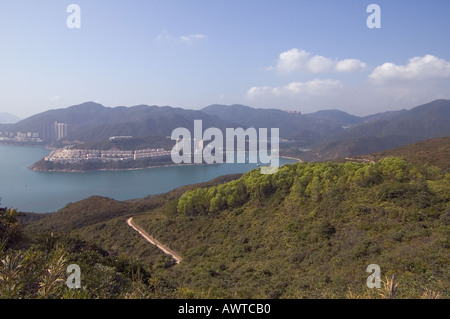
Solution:
[[(83, 173), (35, 172), (28, 167), (49, 154), (43, 147), (0, 145), (2, 207), (45, 213), (93, 195), (117, 200), (142, 198), (215, 177), (245, 173), (256, 164), (215, 164), (155, 167), (140, 170)], [(295, 160), (280, 158), (280, 165)]]

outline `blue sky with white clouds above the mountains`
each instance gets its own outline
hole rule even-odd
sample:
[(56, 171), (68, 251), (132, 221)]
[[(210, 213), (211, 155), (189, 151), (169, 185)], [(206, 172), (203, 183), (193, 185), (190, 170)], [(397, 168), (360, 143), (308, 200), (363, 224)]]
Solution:
[[(372, 3), (380, 29), (366, 24)], [(448, 0), (2, 0), (0, 112), (411, 108), (450, 98), (449, 15)]]

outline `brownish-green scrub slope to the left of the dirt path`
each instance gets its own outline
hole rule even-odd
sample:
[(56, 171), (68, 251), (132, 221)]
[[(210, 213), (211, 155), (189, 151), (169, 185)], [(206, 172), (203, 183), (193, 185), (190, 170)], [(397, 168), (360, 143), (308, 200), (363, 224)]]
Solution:
[[(160, 207), (193, 187), (129, 202), (94, 196), (53, 214), (0, 209), (0, 298), (160, 298), (162, 283), (177, 297), (173, 283), (158, 274), (173, 262), (127, 227), (123, 218)], [(93, 240), (86, 241), (89, 236)], [(80, 266), (82, 289), (65, 285), (70, 264)]]

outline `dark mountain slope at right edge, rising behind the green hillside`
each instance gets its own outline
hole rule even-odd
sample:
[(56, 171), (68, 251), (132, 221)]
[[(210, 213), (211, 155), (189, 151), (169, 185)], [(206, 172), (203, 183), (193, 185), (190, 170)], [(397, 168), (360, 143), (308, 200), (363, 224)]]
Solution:
[(387, 115), (354, 125), (299, 156), (308, 161), (326, 161), (450, 136), (450, 100), (435, 100)]

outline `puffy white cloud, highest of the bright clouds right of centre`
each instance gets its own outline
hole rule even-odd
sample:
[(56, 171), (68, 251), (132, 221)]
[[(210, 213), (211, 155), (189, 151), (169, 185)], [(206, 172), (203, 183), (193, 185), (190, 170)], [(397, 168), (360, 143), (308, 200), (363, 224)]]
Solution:
[(277, 70), (280, 73), (359, 72), (366, 67), (366, 63), (356, 59), (333, 60), (294, 48), (282, 52), (278, 57), (277, 65), (269, 67), (269, 70)]

